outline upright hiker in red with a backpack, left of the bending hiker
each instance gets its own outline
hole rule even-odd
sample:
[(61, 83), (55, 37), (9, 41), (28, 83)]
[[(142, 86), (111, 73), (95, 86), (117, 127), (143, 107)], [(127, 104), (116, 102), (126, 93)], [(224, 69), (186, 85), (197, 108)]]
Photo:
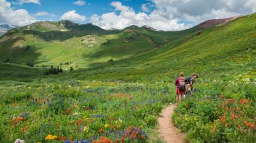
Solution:
[(181, 72), (179, 74), (179, 77), (175, 80), (175, 86), (176, 86), (176, 90), (175, 90), (176, 100), (175, 100), (175, 102), (176, 103), (174, 104), (174, 106), (178, 106), (179, 98), (184, 96), (185, 85), (186, 84), (185, 84), (184, 74)]

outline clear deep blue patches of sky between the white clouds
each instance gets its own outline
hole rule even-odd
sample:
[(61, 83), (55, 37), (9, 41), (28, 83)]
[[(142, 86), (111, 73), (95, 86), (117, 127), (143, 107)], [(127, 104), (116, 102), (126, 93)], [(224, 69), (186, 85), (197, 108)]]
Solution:
[[(13, 2), (13, 1), (9, 1)], [(103, 13), (114, 11), (113, 6), (111, 6), (110, 0), (102, 1), (102, 0), (87, 0), (84, 1), (84, 5), (76, 5), (73, 4), (76, 0), (41, 0), (40, 5), (34, 3), (25, 3), (25, 4), (15, 4), (15, 9), (26, 9), (29, 14), (33, 15), (40, 11), (46, 11), (49, 16), (36, 16), (38, 20), (52, 20), (59, 21), (60, 16), (62, 16), (66, 11), (76, 10), (76, 12), (80, 15), (84, 15), (86, 17), (91, 17), (93, 14), (102, 15)], [(119, 1), (124, 5), (131, 6), (135, 12), (142, 11), (141, 5), (144, 3), (148, 3), (146, 0), (123, 0)], [(146, 12), (148, 13), (148, 12)], [(51, 16), (54, 15), (54, 16)], [(89, 23), (86, 22), (75, 21), (77, 23)]]

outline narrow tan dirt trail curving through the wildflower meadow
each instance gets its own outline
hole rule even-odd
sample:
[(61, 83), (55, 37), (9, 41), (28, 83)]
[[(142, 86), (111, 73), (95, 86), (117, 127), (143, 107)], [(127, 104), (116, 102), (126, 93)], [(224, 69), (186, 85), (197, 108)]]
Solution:
[(185, 142), (184, 134), (179, 133), (178, 129), (172, 124), (172, 115), (174, 113), (174, 106), (168, 106), (163, 109), (162, 113), (159, 115), (159, 132), (160, 137), (163, 138), (167, 143), (173, 142)]

